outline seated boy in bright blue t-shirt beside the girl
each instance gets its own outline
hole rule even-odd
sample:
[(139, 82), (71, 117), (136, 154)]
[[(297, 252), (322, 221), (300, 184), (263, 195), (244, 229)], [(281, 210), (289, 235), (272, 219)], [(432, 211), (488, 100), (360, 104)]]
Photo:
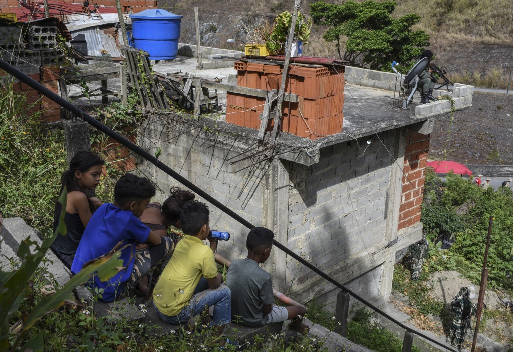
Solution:
[[(99, 207), (87, 224), (71, 266), (73, 274), (88, 261), (109, 253), (118, 243), (123, 248), (120, 259), (125, 269), (105, 282), (94, 275), (87, 284), (93, 293), (97, 289), (99, 300), (112, 302), (131, 289), (144, 296), (151, 288), (151, 276), (146, 274), (162, 266), (172, 253), (173, 241), (150, 231), (139, 219), (154, 195), (155, 185), (151, 181), (125, 174), (114, 187), (114, 204)], [(137, 243), (150, 247), (136, 254)]]

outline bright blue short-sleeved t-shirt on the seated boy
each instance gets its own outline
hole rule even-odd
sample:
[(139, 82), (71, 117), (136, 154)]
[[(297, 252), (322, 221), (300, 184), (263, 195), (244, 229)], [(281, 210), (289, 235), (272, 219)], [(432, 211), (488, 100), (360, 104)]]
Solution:
[[(110, 280), (102, 282), (94, 275), (88, 287), (103, 290), (102, 301), (114, 301), (125, 289), (130, 279), (135, 262), (136, 242), (145, 243), (150, 229), (128, 210), (121, 210), (110, 203), (96, 209), (87, 224), (71, 266), (73, 274), (82, 270), (85, 263), (109, 253), (120, 241), (123, 241), (120, 259), (125, 270), (120, 271)], [(94, 291), (93, 291), (94, 292)]]

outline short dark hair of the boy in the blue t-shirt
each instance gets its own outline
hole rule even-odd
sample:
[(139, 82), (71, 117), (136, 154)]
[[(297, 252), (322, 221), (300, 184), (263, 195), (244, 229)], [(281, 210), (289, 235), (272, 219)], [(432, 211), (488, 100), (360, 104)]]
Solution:
[(114, 201), (119, 206), (131, 202), (141, 202), (156, 194), (155, 184), (132, 173), (123, 175), (114, 186)]

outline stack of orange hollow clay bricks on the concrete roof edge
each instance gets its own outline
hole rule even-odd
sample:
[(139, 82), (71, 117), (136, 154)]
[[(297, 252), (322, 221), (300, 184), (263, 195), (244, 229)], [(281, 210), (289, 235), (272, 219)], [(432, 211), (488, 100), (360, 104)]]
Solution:
[[(275, 64), (235, 62), (238, 85), (264, 91), (280, 88), (282, 67)], [(304, 67), (291, 65), (285, 93), (298, 96), (298, 103), (282, 104), (281, 131), (312, 140), (342, 131), (344, 67)], [(228, 93), (226, 122), (260, 128), (265, 98)], [(273, 120), (267, 130), (273, 126)]]

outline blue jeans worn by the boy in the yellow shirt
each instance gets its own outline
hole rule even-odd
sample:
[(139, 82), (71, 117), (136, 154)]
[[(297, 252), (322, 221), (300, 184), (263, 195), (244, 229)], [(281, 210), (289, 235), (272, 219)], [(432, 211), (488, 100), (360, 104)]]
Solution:
[(156, 305), (155, 311), (157, 315), (166, 323), (178, 325), (186, 323), (190, 318), (201, 314), (205, 307), (214, 306), (214, 315), (212, 318), (211, 325), (220, 326), (226, 325), (231, 322), (231, 292), (225, 285), (221, 285), (215, 290), (207, 289), (200, 291), (205, 288), (207, 284), (206, 279), (202, 278), (198, 284), (198, 288), (194, 291), (194, 295), (189, 300), (189, 303), (182, 309), (178, 315), (174, 317), (167, 316), (161, 313)]

